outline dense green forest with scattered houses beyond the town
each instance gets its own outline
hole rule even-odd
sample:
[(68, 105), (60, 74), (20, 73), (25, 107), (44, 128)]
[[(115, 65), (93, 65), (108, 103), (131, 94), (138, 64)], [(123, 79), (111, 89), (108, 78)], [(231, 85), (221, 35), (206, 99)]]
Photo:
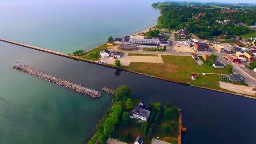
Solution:
[[(236, 9), (237, 12), (224, 13), (224, 8), (193, 6), (172, 3), (155, 3), (152, 7), (161, 10), (156, 28), (178, 30), (184, 28), (202, 39), (221, 36), (235, 38), (253, 32), (248, 28), (256, 23), (256, 9)], [(224, 23), (224, 20), (226, 21)]]

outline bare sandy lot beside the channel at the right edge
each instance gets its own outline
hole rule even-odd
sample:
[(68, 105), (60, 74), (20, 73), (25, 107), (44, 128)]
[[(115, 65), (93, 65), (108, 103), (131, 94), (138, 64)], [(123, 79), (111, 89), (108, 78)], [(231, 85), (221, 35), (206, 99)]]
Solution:
[(252, 88), (253, 87), (247, 87), (244, 85), (236, 85), (236, 84), (230, 84), (230, 83), (225, 83), (225, 82), (219, 82), (220, 83), (220, 87), (227, 89), (229, 91), (232, 92), (237, 92), (237, 93), (244, 93), (244, 94), (248, 94), (251, 96), (255, 96), (256, 95), (256, 91), (253, 91)]

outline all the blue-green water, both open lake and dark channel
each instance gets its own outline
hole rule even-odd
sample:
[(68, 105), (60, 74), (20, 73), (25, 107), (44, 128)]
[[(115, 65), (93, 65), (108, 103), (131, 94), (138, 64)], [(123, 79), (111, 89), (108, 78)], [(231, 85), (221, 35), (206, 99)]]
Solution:
[[(156, 23), (148, 0), (0, 1), (0, 37), (60, 52), (89, 48)], [(112, 33), (111, 33), (112, 32)], [(111, 34), (110, 34), (111, 33)], [(12, 69), (19, 61), (98, 90), (127, 84), (132, 97), (183, 112), (183, 144), (254, 144), (256, 100), (193, 88), (0, 42), (0, 144), (80, 144), (111, 104)]]

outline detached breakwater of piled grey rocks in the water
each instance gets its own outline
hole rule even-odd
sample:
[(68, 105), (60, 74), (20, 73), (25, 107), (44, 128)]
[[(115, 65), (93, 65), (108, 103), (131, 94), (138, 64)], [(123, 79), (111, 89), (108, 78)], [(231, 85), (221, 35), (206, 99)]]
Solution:
[(84, 95), (91, 96), (92, 98), (97, 98), (97, 97), (101, 96), (100, 92), (97, 92), (93, 89), (85, 88), (85, 87), (81, 86), (80, 84), (76, 84), (76, 83), (73, 83), (71, 81), (64, 80), (64, 79), (61, 79), (61, 78), (56, 77), (56, 76), (52, 76), (48, 73), (41, 72), (41, 71), (39, 71), (35, 68), (30, 68), (26, 65), (18, 65), (17, 64), (15, 66), (13, 66), (12, 68), (14, 68), (16, 70), (19, 70), (21, 72), (28, 73), (28, 74), (33, 75), (33, 76), (37, 76), (37, 77), (39, 77), (43, 80), (53, 82), (56, 85), (60, 85), (60, 86), (63, 86), (64, 88), (71, 89), (74, 92), (80, 92)]

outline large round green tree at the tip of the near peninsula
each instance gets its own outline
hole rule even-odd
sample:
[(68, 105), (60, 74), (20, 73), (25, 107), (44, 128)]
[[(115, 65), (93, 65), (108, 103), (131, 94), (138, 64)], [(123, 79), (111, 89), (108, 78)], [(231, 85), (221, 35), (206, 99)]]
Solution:
[(127, 85), (116, 88), (113, 101), (126, 101), (131, 96), (131, 89)]

